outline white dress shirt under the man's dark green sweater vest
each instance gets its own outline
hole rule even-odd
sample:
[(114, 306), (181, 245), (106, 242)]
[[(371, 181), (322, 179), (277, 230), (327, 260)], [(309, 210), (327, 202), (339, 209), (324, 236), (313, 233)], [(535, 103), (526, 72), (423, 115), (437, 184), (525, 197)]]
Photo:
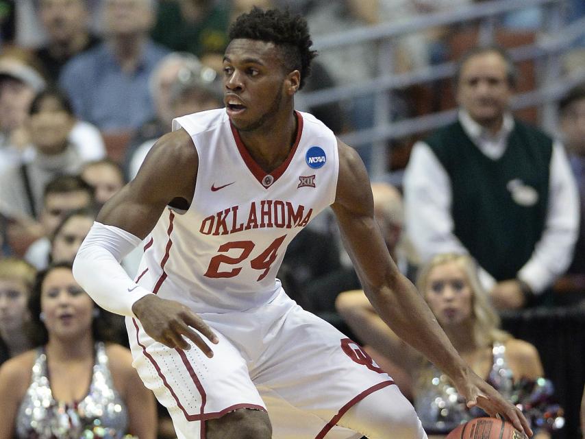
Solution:
[[(493, 135), (473, 121), (464, 110), (459, 121), (480, 151), (497, 160), (506, 151), (514, 119), (507, 113), (502, 128)], [(469, 251), (453, 235), (451, 181), (447, 171), (427, 143), (417, 142), (404, 176), (406, 230), (423, 261), (443, 252)], [(550, 163), (549, 199), (545, 230), (530, 259), (517, 277), (536, 294), (551, 286), (569, 267), (579, 230), (579, 195), (564, 147), (553, 143)], [(496, 281), (480, 268), (480, 280), (488, 291)]]

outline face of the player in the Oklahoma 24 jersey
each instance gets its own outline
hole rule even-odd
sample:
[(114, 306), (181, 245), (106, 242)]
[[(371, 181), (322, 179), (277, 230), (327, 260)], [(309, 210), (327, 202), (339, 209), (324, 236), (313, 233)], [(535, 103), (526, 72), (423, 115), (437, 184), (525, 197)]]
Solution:
[(241, 131), (266, 126), (286, 108), (288, 76), (278, 48), (264, 41), (236, 39), (223, 58), (224, 104)]

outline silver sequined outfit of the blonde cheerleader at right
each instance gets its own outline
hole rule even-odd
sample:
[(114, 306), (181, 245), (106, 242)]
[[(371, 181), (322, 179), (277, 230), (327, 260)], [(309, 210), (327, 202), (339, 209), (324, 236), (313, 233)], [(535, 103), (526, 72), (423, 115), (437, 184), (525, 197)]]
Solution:
[[(492, 348), (493, 364), (488, 376), (488, 383), (494, 386), (506, 398), (512, 394), (512, 370), (506, 361), (506, 346), (495, 343)], [(467, 409), (464, 399), (459, 396), (453, 383), (435, 366), (432, 377), (425, 381), (423, 388), (416, 391), (414, 408), (428, 434), (441, 434), (451, 431), (460, 423), (486, 416), (481, 409)]]

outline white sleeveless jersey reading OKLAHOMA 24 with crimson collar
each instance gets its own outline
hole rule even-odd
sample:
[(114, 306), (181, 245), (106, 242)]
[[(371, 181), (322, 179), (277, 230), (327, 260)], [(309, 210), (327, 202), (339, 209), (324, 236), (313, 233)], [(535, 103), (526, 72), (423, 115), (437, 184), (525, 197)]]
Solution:
[(224, 108), (173, 121), (199, 154), (195, 195), (186, 212), (167, 209), (147, 237), (140, 285), (199, 313), (249, 309), (276, 296), (288, 243), (334, 202), (337, 186), (336, 137), (312, 115), (296, 116), (295, 144), (269, 174)]

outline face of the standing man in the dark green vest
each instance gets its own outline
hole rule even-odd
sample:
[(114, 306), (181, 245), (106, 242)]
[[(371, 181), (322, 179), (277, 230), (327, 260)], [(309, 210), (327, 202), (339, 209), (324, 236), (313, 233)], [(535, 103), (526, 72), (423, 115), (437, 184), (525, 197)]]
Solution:
[(497, 52), (472, 56), (462, 65), (457, 99), (480, 125), (501, 120), (511, 93), (506, 61)]

